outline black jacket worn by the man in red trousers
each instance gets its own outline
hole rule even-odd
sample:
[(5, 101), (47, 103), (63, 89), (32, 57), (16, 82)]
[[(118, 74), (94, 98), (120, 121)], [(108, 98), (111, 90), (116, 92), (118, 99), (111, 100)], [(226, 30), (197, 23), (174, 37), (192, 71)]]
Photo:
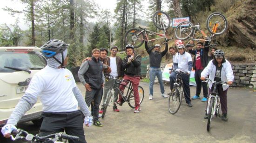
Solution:
[(141, 75), (141, 55), (135, 54), (134, 60), (128, 63), (128, 58), (125, 56), (122, 62), (122, 68), (125, 70), (125, 75)]

